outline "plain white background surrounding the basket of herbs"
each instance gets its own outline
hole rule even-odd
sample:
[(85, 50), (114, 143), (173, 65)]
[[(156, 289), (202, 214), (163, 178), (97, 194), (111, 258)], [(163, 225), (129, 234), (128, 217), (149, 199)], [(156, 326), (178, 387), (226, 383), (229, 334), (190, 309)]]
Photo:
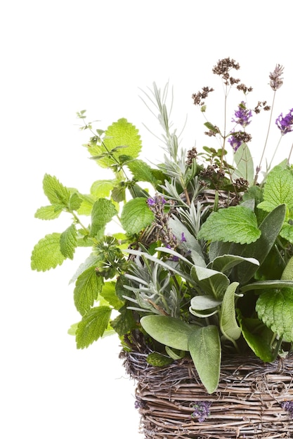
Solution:
[[(34, 219), (46, 205), (44, 174), (84, 193), (101, 175), (82, 147), (87, 133), (79, 131), (76, 112), (87, 109), (90, 119), (100, 120), (99, 128), (126, 117), (141, 132), (143, 155), (155, 161), (159, 142), (143, 122), (159, 130), (139, 88), (169, 80), (179, 129), (188, 115), (183, 146), (196, 142), (200, 149), (208, 140), (191, 94), (213, 86), (220, 100), (220, 81), (211, 68), (230, 56), (242, 67), (236, 76), (254, 86), (252, 106), (271, 102), (268, 73), (276, 63), (285, 66), (275, 120), (293, 107), (289, 5), (10, 0), (1, 6), (1, 438), (141, 436), (134, 384), (117, 358), (117, 338), (78, 351), (67, 335), (79, 320), (68, 281), (84, 253), (54, 271), (30, 270), (34, 244), (67, 227), (66, 217), (56, 224)], [(214, 112), (220, 115), (221, 108)], [(266, 123), (260, 128), (256, 157)], [(287, 156), (291, 142), (292, 133), (284, 137), (278, 159)]]

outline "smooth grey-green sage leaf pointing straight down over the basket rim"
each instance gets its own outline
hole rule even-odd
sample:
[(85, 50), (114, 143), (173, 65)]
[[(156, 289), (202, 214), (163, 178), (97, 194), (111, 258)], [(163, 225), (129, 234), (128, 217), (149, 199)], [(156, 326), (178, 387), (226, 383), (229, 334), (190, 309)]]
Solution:
[(221, 342), (214, 325), (200, 327), (190, 334), (188, 350), (202, 384), (213, 393), (219, 384), (221, 368)]

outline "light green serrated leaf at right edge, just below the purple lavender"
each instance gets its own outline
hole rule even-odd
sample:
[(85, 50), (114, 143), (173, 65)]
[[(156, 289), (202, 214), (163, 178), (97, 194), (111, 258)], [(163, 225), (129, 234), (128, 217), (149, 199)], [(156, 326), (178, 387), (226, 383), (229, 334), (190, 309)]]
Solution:
[(266, 177), (263, 188), (263, 201), (257, 205), (259, 209), (271, 212), (280, 204), (288, 209), (293, 208), (293, 173), (289, 168), (276, 166)]

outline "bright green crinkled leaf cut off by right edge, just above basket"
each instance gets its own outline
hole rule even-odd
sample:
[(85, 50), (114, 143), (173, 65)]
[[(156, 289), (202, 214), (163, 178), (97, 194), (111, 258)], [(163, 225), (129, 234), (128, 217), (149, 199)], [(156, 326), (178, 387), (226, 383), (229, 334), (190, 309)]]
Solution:
[(293, 288), (268, 290), (259, 296), (256, 312), (286, 342), (293, 342)]

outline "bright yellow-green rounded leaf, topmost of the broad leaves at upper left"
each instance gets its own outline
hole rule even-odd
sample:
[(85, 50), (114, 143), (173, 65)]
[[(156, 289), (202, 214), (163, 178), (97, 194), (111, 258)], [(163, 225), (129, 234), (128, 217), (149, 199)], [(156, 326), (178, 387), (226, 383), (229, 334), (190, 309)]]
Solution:
[[(88, 149), (92, 156), (102, 156), (97, 160), (98, 164), (107, 168), (117, 165), (122, 154), (136, 158), (141, 151), (141, 136), (132, 123), (126, 119), (119, 119), (105, 131), (103, 144), (91, 145)], [(109, 151), (112, 151), (112, 157), (108, 154)]]

